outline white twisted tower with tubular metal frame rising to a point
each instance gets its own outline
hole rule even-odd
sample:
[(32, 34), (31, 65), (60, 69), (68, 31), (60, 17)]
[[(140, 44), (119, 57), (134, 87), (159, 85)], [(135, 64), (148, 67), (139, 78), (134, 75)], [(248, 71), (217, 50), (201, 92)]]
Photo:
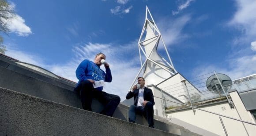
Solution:
[[(164, 59), (163, 57), (161, 57), (157, 52), (158, 44), (160, 42), (163, 43), (169, 62), (166, 61), (166, 59)], [(162, 39), (161, 33), (156, 23), (154, 22), (154, 19), (148, 7), (146, 7), (146, 18), (141, 35), (139, 37), (138, 46), (141, 68), (138, 74), (136, 75), (136, 78), (134, 79), (132, 86), (136, 82), (136, 79), (141, 74), (141, 72), (146, 80), (147, 85), (156, 85), (159, 82), (162, 82), (165, 79), (177, 73), (169, 56), (166, 45)], [(144, 61), (143, 64), (141, 52), (146, 57), (146, 60)]]

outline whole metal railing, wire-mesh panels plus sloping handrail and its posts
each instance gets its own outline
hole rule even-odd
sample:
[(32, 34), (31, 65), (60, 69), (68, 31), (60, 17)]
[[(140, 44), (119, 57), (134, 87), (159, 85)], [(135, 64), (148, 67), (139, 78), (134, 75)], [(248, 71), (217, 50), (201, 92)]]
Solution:
[[(207, 79), (210, 79), (209, 77), (212, 77), (211, 82), (207, 81)], [(256, 126), (256, 124), (241, 120), (241, 117), (238, 111), (237, 113), (240, 119), (229, 117), (226, 115), (218, 114), (218, 113), (207, 111), (207, 110), (203, 110), (197, 107), (202, 104), (208, 104), (208, 103), (217, 102), (220, 100), (227, 100), (228, 103), (230, 104), (230, 107), (235, 108), (231, 100), (231, 97), (229, 96), (229, 93), (228, 93), (230, 89), (236, 89), (238, 92), (241, 92), (246, 89), (256, 88), (256, 76), (255, 78), (241, 79), (240, 81), (241, 82), (234, 82), (234, 83), (230, 81), (231, 82), (230, 84), (226, 86), (222, 86), (223, 80), (220, 81), (218, 78), (218, 74), (216, 74), (215, 72), (211, 72), (205, 75), (200, 75), (194, 78), (191, 82), (184, 79), (179, 83), (162, 87), (161, 91), (170, 94), (171, 96), (177, 98), (178, 100), (175, 100), (172, 97), (168, 98), (168, 96), (167, 95), (165, 96), (164, 93), (162, 93), (162, 98), (156, 97), (156, 96), (155, 98), (160, 99), (163, 102), (162, 105), (164, 105), (165, 109), (168, 111), (190, 107), (192, 108), (192, 111), (194, 112), (194, 114), (196, 110), (200, 110), (200, 111), (205, 111), (214, 115), (218, 115), (220, 118), (222, 127), (224, 129), (224, 132), (226, 133), (226, 136), (228, 134), (226, 132), (226, 128), (223, 124), (221, 117), (230, 118), (232, 120), (242, 122), (245, 128), (245, 131), (248, 135), (248, 131), (244, 123), (254, 125), (254, 126)], [(166, 110), (164, 110), (163, 112), (166, 112)], [(168, 120), (167, 116), (165, 119)]]

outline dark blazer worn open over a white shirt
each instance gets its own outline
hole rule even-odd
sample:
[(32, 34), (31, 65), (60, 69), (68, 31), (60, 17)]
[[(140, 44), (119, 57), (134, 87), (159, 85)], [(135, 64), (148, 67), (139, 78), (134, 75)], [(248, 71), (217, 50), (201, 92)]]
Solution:
[[(135, 89), (133, 93), (129, 91), (129, 93), (126, 95), (126, 99), (130, 99), (134, 97), (134, 105), (137, 106), (138, 95), (139, 95), (139, 89)], [(151, 89), (147, 87), (144, 88), (143, 99), (150, 101), (154, 105), (154, 96)]]

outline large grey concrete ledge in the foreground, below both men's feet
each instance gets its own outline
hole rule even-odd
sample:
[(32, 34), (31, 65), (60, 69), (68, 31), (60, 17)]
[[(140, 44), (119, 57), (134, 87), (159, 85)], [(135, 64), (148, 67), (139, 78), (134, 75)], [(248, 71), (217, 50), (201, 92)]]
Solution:
[(177, 136), (0, 88), (0, 135)]

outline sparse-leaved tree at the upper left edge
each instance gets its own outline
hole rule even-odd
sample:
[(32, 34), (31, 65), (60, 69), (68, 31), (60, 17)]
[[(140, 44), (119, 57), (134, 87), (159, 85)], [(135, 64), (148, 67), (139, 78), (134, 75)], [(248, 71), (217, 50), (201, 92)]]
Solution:
[[(0, 0), (0, 32), (8, 35), (10, 32), (8, 21), (13, 18), (14, 10), (11, 4), (9, 4), (6, 0)], [(4, 39), (0, 36), (0, 53), (4, 54), (7, 50), (4, 46)]]

